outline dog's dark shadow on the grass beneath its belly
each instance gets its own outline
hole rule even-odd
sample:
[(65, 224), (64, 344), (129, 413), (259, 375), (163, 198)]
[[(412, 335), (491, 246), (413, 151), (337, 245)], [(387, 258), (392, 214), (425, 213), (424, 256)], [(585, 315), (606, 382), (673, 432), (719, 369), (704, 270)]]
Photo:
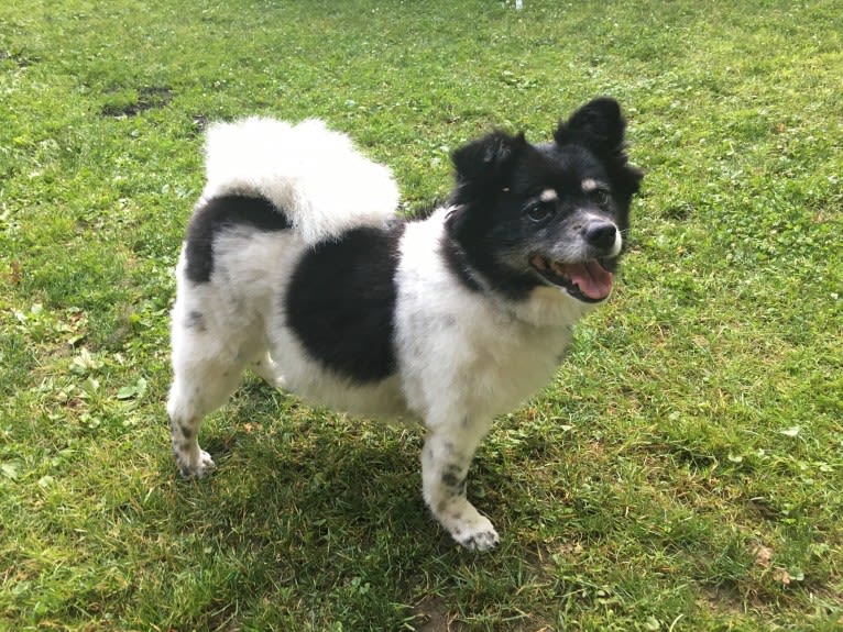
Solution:
[(206, 521), (206, 533), (219, 525), (223, 539), (233, 530), (309, 545), (339, 535), (362, 545), (384, 529), (416, 539), (437, 531), (421, 498), (418, 430), (286, 402), (259, 408), (202, 430), (217, 468), (177, 486), (191, 508), (185, 526)]

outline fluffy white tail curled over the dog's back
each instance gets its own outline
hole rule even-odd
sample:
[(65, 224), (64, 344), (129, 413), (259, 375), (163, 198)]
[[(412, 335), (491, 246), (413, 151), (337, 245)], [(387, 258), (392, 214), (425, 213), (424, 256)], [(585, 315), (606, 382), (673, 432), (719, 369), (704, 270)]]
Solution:
[(208, 130), (205, 156), (202, 199), (262, 196), (308, 244), (395, 217), (398, 188), (390, 169), (315, 119), (297, 125), (260, 117), (217, 123)]

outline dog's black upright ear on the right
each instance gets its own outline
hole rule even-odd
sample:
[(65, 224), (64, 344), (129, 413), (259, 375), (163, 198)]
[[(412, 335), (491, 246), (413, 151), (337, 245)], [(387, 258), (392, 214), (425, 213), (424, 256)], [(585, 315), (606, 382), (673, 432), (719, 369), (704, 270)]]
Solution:
[(632, 196), (638, 190), (644, 171), (627, 164), (625, 131), (621, 106), (610, 97), (601, 97), (585, 103), (568, 121), (560, 121), (554, 140), (560, 146), (580, 144), (594, 152), (609, 167), (616, 186)]

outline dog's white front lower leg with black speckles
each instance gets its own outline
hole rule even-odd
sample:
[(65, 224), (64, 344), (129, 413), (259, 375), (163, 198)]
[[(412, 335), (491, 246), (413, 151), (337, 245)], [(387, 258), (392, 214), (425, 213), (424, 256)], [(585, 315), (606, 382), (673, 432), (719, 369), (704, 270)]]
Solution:
[(459, 544), (473, 551), (492, 548), (499, 542), (492, 522), (466, 498), (466, 480), (482, 433), (460, 429), (453, 433), (430, 431), (421, 453), (425, 501), (439, 523)]

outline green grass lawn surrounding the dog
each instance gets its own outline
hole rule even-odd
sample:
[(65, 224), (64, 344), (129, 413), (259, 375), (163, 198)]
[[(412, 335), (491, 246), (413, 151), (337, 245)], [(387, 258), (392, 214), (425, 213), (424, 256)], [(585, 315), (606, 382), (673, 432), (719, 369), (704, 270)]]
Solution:
[[(0, 7), (0, 629), (843, 625), (836, 2)], [(457, 550), (420, 436), (248, 380), (178, 479), (167, 312), (206, 121), (321, 117), (407, 210), (601, 93), (647, 171), (618, 290), (499, 420)]]

